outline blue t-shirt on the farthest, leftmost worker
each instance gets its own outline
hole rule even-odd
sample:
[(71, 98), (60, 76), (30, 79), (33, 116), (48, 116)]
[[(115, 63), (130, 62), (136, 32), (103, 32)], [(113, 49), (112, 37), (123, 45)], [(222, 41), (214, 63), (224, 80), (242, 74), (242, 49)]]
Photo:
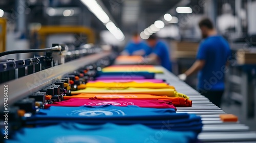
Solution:
[(142, 56), (150, 55), (152, 52), (152, 49), (148, 47), (147, 44), (143, 41), (139, 43), (134, 43), (133, 41), (130, 41), (124, 48), (124, 51), (129, 53), (129, 55), (133, 55), (134, 52), (139, 50), (144, 50), (145, 54)]

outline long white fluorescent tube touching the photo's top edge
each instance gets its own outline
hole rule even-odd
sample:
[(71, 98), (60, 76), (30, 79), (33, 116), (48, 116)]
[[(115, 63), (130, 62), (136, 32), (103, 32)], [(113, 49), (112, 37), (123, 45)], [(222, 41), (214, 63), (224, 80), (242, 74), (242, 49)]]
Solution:
[(88, 9), (103, 23), (110, 21), (109, 16), (104, 12), (95, 0), (80, 0)]

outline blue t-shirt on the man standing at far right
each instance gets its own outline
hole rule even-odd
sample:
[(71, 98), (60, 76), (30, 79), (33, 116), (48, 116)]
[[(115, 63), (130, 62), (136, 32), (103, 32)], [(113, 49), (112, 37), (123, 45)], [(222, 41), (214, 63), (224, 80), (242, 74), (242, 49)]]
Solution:
[(205, 65), (198, 74), (198, 90), (224, 90), (225, 65), (231, 58), (228, 42), (222, 36), (210, 36), (200, 43), (197, 59)]

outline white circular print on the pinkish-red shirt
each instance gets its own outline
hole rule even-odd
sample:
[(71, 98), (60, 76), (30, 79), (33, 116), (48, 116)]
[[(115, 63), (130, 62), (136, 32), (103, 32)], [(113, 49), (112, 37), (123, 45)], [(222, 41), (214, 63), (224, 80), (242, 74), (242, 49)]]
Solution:
[(100, 106), (100, 105), (114, 105), (114, 106), (127, 106), (127, 105), (134, 105), (133, 102), (125, 102), (125, 101), (107, 101), (107, 102), (102, 102), (102, 101), (92, 101), (84, 105), (89, 105), (89, 106)]

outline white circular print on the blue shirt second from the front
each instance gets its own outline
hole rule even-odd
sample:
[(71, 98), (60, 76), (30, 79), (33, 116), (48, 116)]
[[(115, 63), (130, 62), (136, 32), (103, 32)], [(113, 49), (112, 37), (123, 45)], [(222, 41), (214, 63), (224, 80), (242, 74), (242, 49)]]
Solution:
[(78, 115), (78, 116), (112, 116), (112, 115), (125, 115), (121, 110), (116, 109), (81, 109), (72, 111), (72, 113), (67, 115)]

